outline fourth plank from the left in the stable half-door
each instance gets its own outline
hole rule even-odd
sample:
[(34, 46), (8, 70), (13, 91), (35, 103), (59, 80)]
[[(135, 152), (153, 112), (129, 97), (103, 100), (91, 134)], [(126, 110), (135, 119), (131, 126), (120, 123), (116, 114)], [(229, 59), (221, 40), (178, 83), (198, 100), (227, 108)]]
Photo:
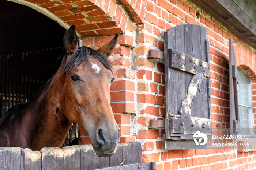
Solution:
[(64, 169), (80, 169), (80, 147), (77, 145), (63, 147)]

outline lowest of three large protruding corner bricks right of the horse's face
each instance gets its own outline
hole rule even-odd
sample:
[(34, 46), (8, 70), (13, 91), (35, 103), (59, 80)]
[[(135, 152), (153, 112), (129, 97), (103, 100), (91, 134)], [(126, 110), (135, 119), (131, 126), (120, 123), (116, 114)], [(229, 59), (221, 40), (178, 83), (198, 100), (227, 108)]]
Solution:
[(134, 103), (110, 103), (113, 113), (135, 113)]

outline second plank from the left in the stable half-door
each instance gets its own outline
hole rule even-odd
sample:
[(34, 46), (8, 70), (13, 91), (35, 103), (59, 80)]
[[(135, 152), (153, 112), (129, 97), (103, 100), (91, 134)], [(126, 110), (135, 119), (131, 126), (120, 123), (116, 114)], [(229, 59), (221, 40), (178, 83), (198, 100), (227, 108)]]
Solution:
[(29, 148), (22, 149), (22, 158), (25, 170), (41, 170), (41, 152)]

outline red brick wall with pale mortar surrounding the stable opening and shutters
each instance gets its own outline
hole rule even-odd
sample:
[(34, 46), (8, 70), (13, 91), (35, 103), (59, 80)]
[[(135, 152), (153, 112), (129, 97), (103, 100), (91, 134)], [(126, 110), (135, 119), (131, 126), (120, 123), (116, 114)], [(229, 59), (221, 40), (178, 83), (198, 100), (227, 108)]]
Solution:
[[(157, 162), (158, 170), (249, 169), (256, 151), (237, 149), (163, 150), (165, 129), (149, 130), (150, 119), (165, 119), (164, 32), (180, 24), (207, 28), (210, 43), (212, 126), (229, 124), (229, 38), (237, 66), (253, 81), (256, 113), (256, 53), (204, 9), (189, 0), (27, 0), (52, 13), (64, 25), (77, 25), (83, 46), (98, 48), (120, 33), (110, 61), (116, 70), (111, 86), (111, 106), (120, 127), (120, 142), (140, 142), (143, 162)], [(110, 35), (110, 36), (107, 36)], [(148, 51), (158, 52), (148, 59)], [(256, 114), (254, 116), (256, 127)], [(90, 143), (81, 131), (80, 143)]]

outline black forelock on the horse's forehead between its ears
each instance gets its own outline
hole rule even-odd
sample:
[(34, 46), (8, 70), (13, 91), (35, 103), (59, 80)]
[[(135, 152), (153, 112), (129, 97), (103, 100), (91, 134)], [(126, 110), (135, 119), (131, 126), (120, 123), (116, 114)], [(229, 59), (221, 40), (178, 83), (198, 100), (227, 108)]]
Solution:
[(79, 46), (78, 50), (69, 57), (65, 54), (61, 64), (61, 72), (64, 74), (67, 71), (73, 69), (76, 70), (81, 64), (84, 64), (84, 67), (86, 67), (91, 55), (95, 56), (95, 58), (97, 58), (106, 69), (113, 72), (112, 64), (103, 54), (101, 54), (101, 52), (84, 46)]

